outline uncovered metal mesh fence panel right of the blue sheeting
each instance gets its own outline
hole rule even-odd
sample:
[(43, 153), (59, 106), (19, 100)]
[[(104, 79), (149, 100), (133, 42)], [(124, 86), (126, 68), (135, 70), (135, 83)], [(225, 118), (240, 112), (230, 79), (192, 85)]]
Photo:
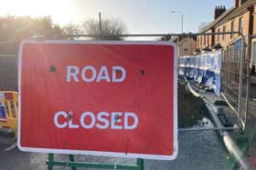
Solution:
[(244, 60), (244, 43), (240, 38), (223, 50), (221, 91), (238, 115), (238, 125), (246, 125), (248, 105), (248, 63)]

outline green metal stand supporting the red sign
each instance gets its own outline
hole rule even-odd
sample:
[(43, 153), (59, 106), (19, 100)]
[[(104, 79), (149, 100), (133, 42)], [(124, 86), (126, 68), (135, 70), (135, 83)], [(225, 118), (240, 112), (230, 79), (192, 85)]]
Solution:
[(144, 170), (144, 159), (137, 159), (136, 165), (114, 165), (114, 164), (101, 164), (101, 163), (88, 163), (88, 162), (75, 162), (74, 155), (69, 155), (69, 162), (55, 161), (53, 154), (48, 154), (47, 160), (48, 170), (52, 170), (54, 165), (69, 166), (72, 170), (76, 167), (89, 167), (89, 168), (104, 168), (104, 169), (125, 169), (125, 170)]

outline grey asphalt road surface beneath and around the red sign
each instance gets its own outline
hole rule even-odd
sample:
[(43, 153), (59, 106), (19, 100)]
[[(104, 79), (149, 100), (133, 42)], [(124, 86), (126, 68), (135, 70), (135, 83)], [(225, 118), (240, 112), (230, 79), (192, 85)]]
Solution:
[[(178, 142), (179, 151), (176, 160), (145, 160), (144, 169), (233, 169), (233, 161), (227, 153), (225, 146), (219, 140), (219, 136), (214, 131), (180, 132)], [(0, 170), (47, 169), (47, 154), (24, 153), (20, 152), (16, 147), (10, 151), (4, 151), (6, 147), (12, 144), (12, 141), (8, 141), (5, 138), (0, 137)], [(68, 155), (55, 155), (55, 159), (58, 160), (68, 160), (68, 158)], [(114, 164), (135, 164), (134, 159), (103, 156), (76, 155), (75, 160)], [(70, 168), (56, 166), (54, 169)]]

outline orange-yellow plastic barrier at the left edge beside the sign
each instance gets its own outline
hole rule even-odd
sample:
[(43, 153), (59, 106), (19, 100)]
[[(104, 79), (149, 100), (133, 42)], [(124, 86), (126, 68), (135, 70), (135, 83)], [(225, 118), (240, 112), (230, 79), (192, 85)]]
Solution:
[(0, 91), (0, 127), (13, 129), (17, 135), (17, 93)]

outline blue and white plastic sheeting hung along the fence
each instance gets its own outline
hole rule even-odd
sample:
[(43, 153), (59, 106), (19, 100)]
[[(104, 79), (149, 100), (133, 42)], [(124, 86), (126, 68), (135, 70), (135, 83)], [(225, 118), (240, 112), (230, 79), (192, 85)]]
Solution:
[(220, 94), (220, 69), (221, 50), (179, 58), (179, 75), (213, 89), (217, 95)]

